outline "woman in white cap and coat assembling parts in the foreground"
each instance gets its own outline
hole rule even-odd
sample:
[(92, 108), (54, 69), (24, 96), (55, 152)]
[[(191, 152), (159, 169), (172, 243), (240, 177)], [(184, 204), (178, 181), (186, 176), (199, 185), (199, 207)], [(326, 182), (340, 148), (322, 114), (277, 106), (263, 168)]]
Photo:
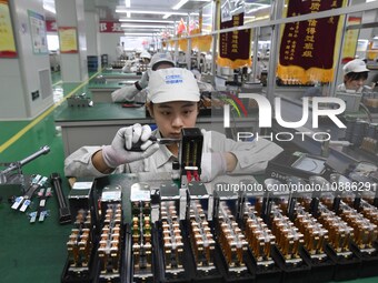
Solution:
[[(196, 127), (200, 93), (193, 74), (185, 69), (170, 68), (151, 72), (148, 110), (158, 127), (133, 124), (120, 129), (110, 145), (83, 146), (64, 161), (67, 176), (103, 176), (113, 172), (171, 172), (178, 160), (178, 144), (162, 145), (149, 140), (180, 138), (182, 128)], [(201, 181), (217, 175), (262, 173), (268, 161), (282, 151), (277, 144), (259, 139), (237, 142), (226, 135), (205, 131)], [(142, 141), (142, 152), (130, 151)]]

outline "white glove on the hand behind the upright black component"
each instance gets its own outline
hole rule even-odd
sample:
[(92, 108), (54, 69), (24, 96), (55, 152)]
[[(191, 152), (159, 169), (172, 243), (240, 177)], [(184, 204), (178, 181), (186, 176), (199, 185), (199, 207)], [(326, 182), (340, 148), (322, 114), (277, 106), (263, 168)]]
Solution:
[(217, 175), (223, 175), (227, 172), (227, 163), (221, 152), (202, 153), (201, 161), (201, 181), (210, 182)]

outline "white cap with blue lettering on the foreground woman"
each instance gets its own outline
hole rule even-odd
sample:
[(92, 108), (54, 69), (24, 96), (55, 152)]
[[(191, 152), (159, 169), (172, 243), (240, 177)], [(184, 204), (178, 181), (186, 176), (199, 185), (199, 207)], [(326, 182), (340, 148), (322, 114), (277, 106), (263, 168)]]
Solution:
[(200, 98), (195, 75), (181, 68), (160, 69), (151, 72), (148, 89), (147, 98), (153, 103), (198, 102)]

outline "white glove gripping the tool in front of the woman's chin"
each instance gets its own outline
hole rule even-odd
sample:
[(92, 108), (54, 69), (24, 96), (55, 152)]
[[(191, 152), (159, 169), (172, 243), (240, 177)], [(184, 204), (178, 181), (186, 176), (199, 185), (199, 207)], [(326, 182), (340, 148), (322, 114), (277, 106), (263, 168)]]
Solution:
[[(133, 124), (118, 130), (111, 145), (102, 146), (103, 161), (109, 168), (117, 168), (121, 164), (146, 159), (159, 150), (158, 143), (149, 140), (151, 128), (147, 124)], [(140, 146), (142, 151), (130, 151), (133, 143), (143, 142)]]

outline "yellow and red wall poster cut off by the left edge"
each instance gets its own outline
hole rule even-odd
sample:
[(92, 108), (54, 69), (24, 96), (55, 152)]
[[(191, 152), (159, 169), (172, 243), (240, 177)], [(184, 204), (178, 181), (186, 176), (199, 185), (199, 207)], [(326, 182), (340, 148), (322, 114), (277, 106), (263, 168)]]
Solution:
[(16, 58), (16, 43), (8, 0), (0, 0), (0, 58)]

